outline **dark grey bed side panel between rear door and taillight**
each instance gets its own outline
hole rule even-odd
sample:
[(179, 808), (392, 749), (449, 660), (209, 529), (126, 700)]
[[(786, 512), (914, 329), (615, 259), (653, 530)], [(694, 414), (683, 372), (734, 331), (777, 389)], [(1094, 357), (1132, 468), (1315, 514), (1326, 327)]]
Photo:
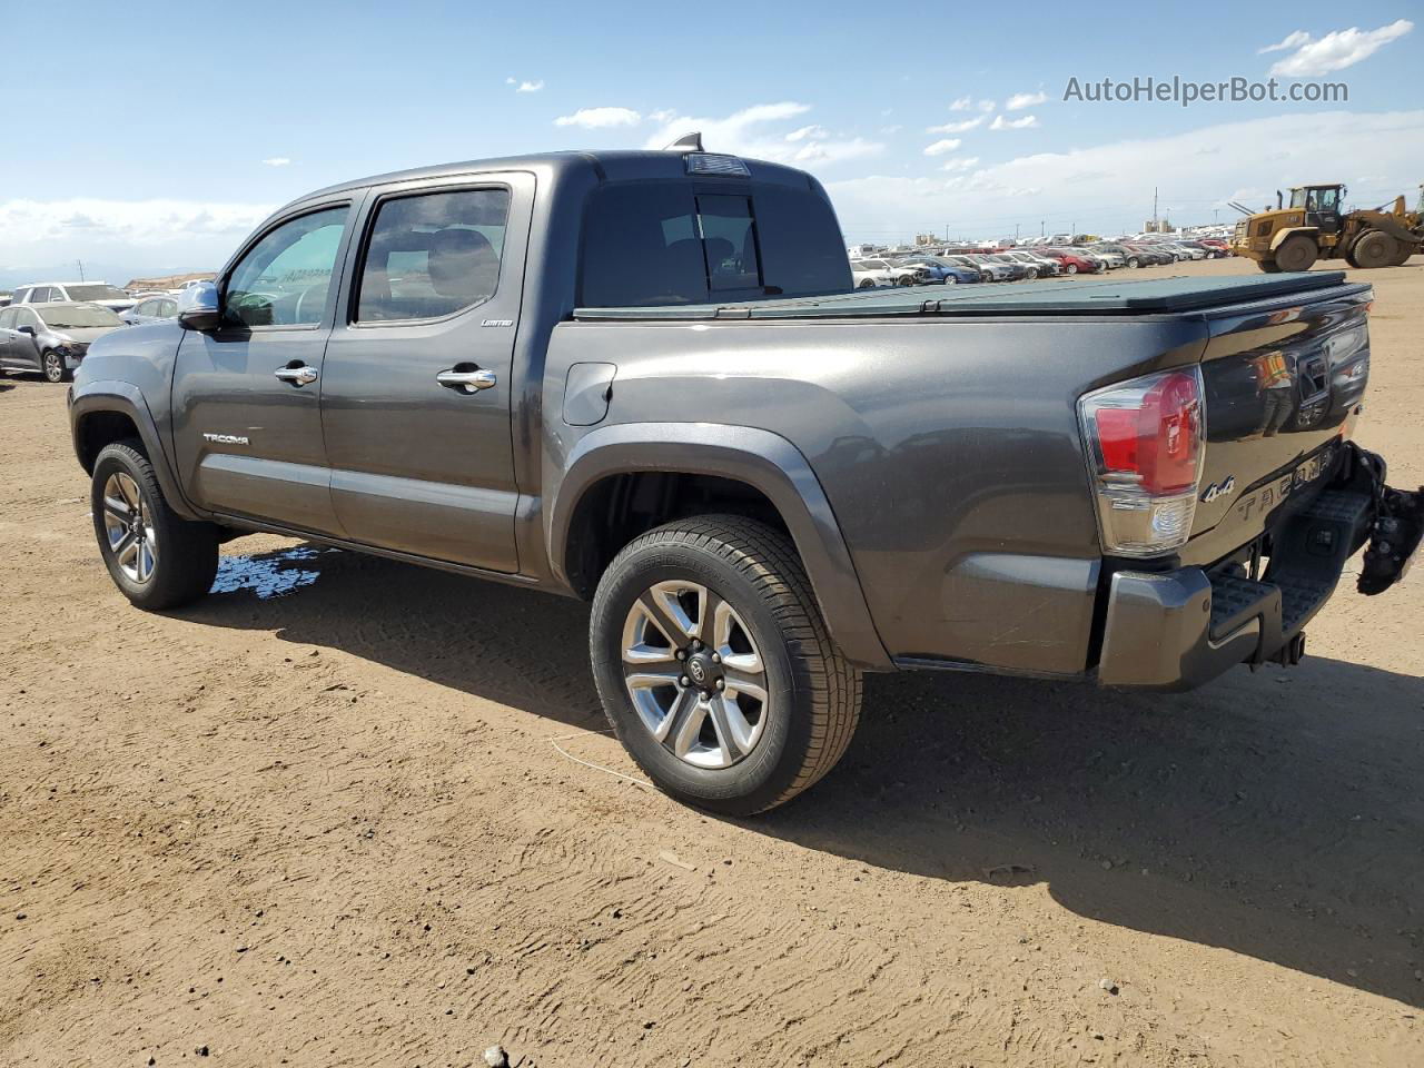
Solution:
[[(1203, 323), (1166, 316), (572, 322), (553, 332), (545, 389), (561, 396), (572, 362), (608, 362), (605, 424), (792, 441), (893, 656), (1077, 674), (1101, 555), (1077, 400), (1192, 363), (1203, 342)], [(587, 433), (547, 419), (555, 453)]]

